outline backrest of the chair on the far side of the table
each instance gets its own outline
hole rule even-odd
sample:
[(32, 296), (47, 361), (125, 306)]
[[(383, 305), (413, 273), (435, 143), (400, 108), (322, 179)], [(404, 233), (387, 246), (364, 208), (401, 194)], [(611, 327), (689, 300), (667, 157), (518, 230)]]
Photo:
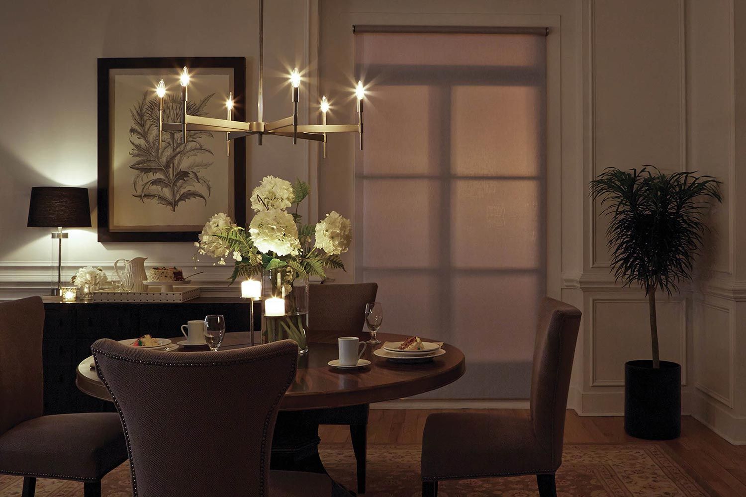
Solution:
[(376, 283), (354, 285), (310, 285), (308, 288), (308, 327), (313, 341), (363, 334), (366, 303), (375, 302)]

